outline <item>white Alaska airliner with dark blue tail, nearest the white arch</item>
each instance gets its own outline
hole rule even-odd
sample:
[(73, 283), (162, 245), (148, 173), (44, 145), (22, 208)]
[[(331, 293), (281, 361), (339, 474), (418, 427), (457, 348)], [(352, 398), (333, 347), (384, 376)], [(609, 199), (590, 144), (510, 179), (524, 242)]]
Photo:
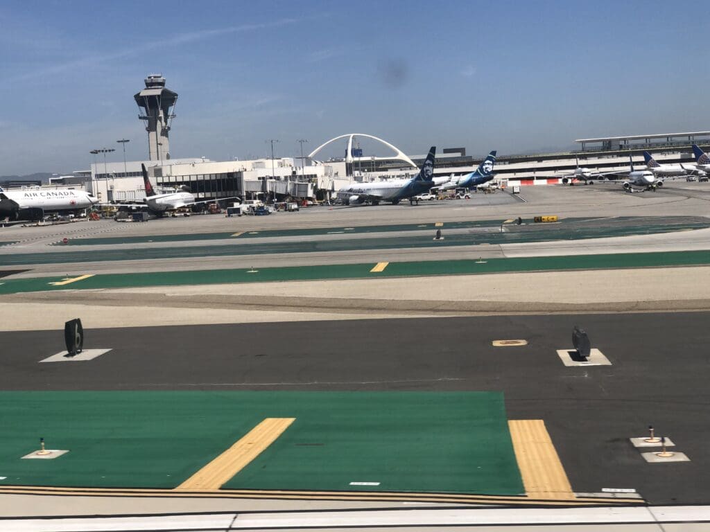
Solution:
[(342, 187), (337, 192), (337, 198), (345, 205), (359, 205), (366, 201), (377, 205), (380, 201), (389, 201), (396, 205), (402, 199), (409, 199), (417, 194), (428, 192), (434, 187), (434, 159), (437, 148), (432, 146), (422, 167), (412, 179), (392, 179), (375, 183), (356, 183)]

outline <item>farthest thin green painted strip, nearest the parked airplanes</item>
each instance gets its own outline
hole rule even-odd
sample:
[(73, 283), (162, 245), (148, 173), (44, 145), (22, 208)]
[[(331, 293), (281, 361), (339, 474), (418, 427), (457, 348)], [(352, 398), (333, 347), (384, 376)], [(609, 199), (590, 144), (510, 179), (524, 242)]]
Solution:
[[(503, 220), (487, 221), (459, 221), (447, 222), (449, 229), (454, 228), (474, 228), (474, 227), (499, 227)], [(184, 233), (173, 235), (140, 235), (140, 236), (107, 236), (104, 238), (72, 238), (68, 245), (110, 245), (110, 244), (136, 244), (149, 242), (191, 242), (195, 240), (224, 240), (229, 238), (272, 238), (276, 236), (312, 236), (331, 234), (366, 234), (366, 233), (386, 233), (391, 231), (422, 231), (424, 229), (435, 229), (435, 223), (406, 223), (388, 226), (359, 226), (359, 227), (316, 227), (302, 229), (266, 229), (249, 231), (234, 226), (233, 231), (219, 233)], [(236, 233), (241, 233), (235, 237)], [(56, 242), (53, 245), (60, 245)], [(61, 244), (62, 246), (64, 244)]]

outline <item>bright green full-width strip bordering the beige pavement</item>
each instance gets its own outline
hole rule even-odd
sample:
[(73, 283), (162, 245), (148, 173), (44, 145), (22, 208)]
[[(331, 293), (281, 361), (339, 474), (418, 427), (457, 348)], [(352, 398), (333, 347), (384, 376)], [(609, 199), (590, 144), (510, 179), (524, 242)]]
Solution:
[(162, 287), (185, 284), (229, 284), (242, 282), (313, 281), (322, 279), (362, 279), (374, 277), (414, 277), (422, 275), (474, 275), (501, 272), (564, 270), (611, 270), (619, 268), (700, 266), (710, 264), (710, 251), (664, 253), (619, 253), (562, 257), (517, 257), (507, 259), (436, 260), (390, 262), (383, 272), (370, 272), (373, 263), (259, 268), (250, 270), (195, 270), (186, 272), (147, 272), (100, 274), (57, 287), (50, 282), (63, 277), (4, 279), (0, 294), (43, 292), (45, 290)]

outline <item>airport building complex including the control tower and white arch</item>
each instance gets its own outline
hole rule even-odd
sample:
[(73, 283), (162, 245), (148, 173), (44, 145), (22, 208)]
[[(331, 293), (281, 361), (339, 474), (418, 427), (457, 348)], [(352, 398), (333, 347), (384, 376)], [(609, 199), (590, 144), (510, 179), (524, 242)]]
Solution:
[[(141, 165), (146, 165), (153, 185), (167, 191), (185, 187), (199, 200), (237, 196), (265, 201), (293, 199), (327, 200), (338, 189), (352, 182), (373, 182), (412, 177), (425, 155), (406, 155), (395, 145), (367, 133), (346, 133), (322, 143), (307, 157), (280, 157), (216, 162), (206, 157), (175, 158), (170, 153), (169, 133), (175, 119), (178, 94), (165, 87), (162, 74), (149, 74), (146, 87), (133, 99), (138, 118), (146, 123), (147, 160), (111, 161), (107, 153), (116, 150), (91, 150), (94, 160), (90, 170), (56, 179), (52, 186), (77, 187), (92, 192), (102, 203), (142, 201), (145, 186)], [(376, 143), (373, 153), (364, 153), (360, 140)], [(124, 144), (129, 140), (119, 140)], [(496, 180), (500, 184), (550, 184), (559, 182), (563, 170), (587, 167), (602, 172), (623, 172), (629, 168), (629, 156), (635, 165), (644, 165), (642, 150), (649, 150), (661, 163), (694, 162), (692, 144), (706, 149), (710, 131), (660, 133), (651, 135), (584, 138), (576, 140), (579, 150), (565, 153), (501, 155), (496, 160)], [(432, 140), (432, 143), (436, 143)], [(327, 149), (342, 154), (324, 160)], [(476, 147), (478, 156), (466, 154), (466, 148), (439, 148), (435, 174), (473, 172), (496, 146)], [(381, 155), (386, 152), (388, 155)], [(97, 160), (102, 154), (103, 160)], [(125, 157), (125, 151), (124, 151)], [(113, 157), (111, 157), (113, 158)]]

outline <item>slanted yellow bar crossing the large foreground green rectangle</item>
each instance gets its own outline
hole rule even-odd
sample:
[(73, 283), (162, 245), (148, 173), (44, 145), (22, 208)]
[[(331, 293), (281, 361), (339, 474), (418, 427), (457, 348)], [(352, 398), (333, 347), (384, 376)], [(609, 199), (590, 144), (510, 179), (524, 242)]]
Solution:
[(295, 418), (264, 419), (238, 442), (175, 489), (188, 491), (219, 489), (281, 436), (293, 421)]

